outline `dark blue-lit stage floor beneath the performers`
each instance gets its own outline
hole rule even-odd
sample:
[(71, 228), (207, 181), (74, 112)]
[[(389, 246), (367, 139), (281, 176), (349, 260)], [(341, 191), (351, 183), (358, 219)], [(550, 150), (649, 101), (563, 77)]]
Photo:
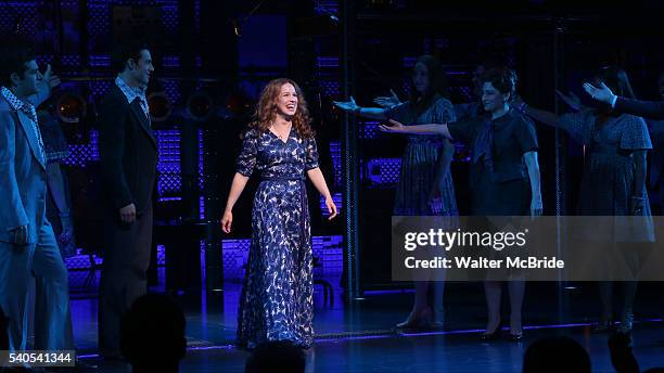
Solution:
[[(447, 329), (418, 332), (393, 329), (407, 316), (412, 292), (368, 292), (361, 300), (344, 303), (342, 291), (334, 288), (330, 306), (323, 305), (322, 287), (316, 286), (317, 337), (307, 351), (307, 368), (310, 372), (520, 372), (528, 344), (542, 336), (566, 335), (590, 353), (593, 372), (613, 372), (608, 335), (590, 333), (598, 313), (597, 287), (592, 283), (572, 287), (558, 297), (552, 283), (528, 284), (523, 310), (526, 338), (481, 343), (477, 335), (485, 322), (481, 284), (449, 284)], [(239, 292), (240, 285), (231, 283), (224, 292), (179, 297), (187, 314), (189, 349), (181, 372), (244, 371), (247, 352), (232, 346)], [(641, 370), (664, 366), (662, 294), (662, 286), (654, 283), (639, 290), (634, 350)], [(81, 358), (103, 372), (130, 372), (126, 364), (105, 363), (97, 356), (97, 299), (76, 298), (72, 306)]]

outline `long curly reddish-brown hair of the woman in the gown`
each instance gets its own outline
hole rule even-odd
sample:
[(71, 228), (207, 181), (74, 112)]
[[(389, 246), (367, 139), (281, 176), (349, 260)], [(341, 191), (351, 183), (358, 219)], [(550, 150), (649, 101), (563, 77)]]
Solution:
[(270, 125), (277, 116), (277, 101), (279, 99), (279, 92), (283, 85), (290, 83), (295, 87), (297, 93), (297, 110), (293, 116), (293, 127), (297, 134), (305, 139), (312, 139), (316, 133), (311, 129), (311, 118), (309, 117), (309, 110), (307, 108), (307, 100), (305, 100), (299, 86), (291, 79), (279, 78), (271, 80), (265, 86), (260, 93), (260, 99), (256, 104), (256, 111), (254, 112), (254, 119), (250, 123), (250, 128), (257, 129), (261, 132), (269, 130)]

